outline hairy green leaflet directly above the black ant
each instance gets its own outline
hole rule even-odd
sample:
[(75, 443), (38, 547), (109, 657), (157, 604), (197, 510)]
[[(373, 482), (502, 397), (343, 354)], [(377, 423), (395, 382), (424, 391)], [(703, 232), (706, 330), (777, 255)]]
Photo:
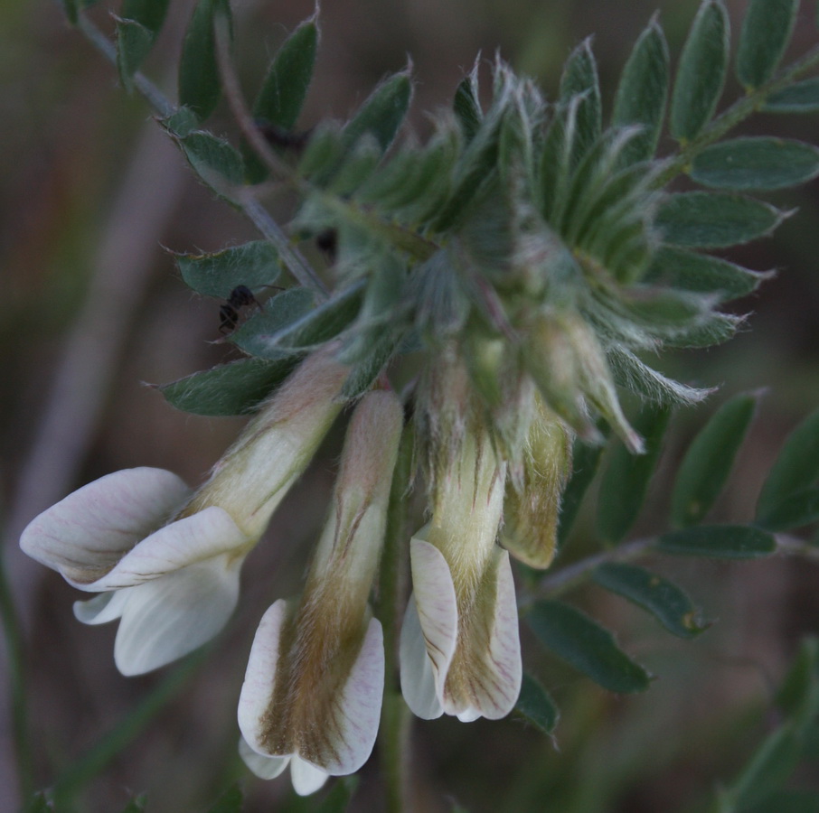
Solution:
[(238, 285), (251, 290), (274, 285), (280, 266), (278, 251), (264, 240), (231, 246), (215, 254), (176, 254), (185, 283), (202, 296), (228, 299)]

